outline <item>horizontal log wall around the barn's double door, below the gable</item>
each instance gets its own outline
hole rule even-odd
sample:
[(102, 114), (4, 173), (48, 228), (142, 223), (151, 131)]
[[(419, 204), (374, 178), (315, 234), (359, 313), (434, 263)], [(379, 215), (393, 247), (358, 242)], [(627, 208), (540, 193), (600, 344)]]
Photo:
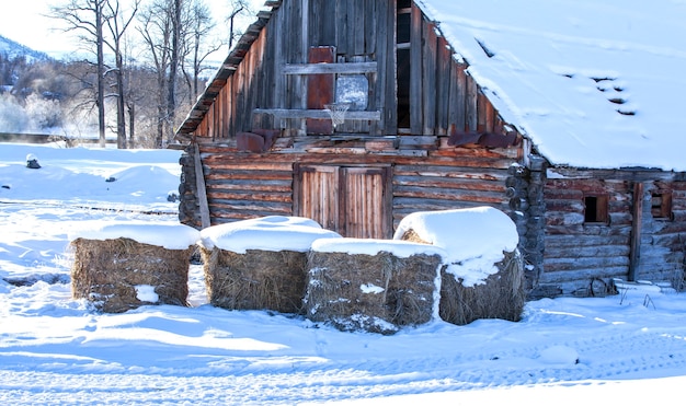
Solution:
[[(444, 147), (422, 151), (423, 159), (395, 151), (341, 148), (339, 153), (237, 153), (219, 144), (201, 148), (211, 223), (263, 216), (291, 216), (294, 177), (298, 165), (388, 167), (391, 170), (390, 217), (392, 229), (378, 237), (391, 237), (400, 220), (414, 211), (493, 206), (511, 211), (505, 184), (519, 151)], [(181, 220), (199, 228), (198, 202), (193, 188), (193, 160), (184, 154)]]

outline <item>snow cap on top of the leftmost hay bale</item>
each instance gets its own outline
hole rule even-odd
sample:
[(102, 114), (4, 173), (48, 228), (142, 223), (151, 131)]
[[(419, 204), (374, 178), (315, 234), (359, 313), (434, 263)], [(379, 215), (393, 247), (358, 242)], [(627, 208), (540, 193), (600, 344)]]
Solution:
[(162, 224), (151, 222), (85, 222), (77, 230), (69, 232), (69, 241), (130, 239), (141, 244), (161, 246), (167, 250), (187, 250), (199, 240), (201, 233), (184, 224)]

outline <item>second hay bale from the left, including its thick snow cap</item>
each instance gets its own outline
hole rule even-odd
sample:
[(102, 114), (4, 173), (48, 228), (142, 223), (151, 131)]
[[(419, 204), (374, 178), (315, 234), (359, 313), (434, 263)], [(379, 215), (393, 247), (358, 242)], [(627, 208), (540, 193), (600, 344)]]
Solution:
[(312, 241), (340, 235), (309, 219), (271, 216), (214, 225), (201, 237), (213, 305), (300, 313)]

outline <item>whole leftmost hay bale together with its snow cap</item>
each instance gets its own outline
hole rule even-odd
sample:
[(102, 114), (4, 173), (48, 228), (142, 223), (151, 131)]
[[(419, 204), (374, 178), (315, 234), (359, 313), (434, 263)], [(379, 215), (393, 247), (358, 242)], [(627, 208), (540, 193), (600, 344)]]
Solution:
[(199, 237), (186, 225), (111, 224), (71, 241), (71, 293), (103, 312), (186, 305), (188, 259)]

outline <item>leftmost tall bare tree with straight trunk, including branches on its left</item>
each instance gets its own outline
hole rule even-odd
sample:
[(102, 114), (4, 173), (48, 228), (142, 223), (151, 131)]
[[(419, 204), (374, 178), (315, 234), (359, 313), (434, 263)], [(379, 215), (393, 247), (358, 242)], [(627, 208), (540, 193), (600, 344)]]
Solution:
[(79, 39), (92, 50), (95, 48), (98, 80), (95, 105), (100, 146), (105, 147), (105, 61), (103, 25), (107, 0), (69, 0), (64, 5), (50, 8), (50, 14), (66, 23), (65, 31), (77, 32)]

